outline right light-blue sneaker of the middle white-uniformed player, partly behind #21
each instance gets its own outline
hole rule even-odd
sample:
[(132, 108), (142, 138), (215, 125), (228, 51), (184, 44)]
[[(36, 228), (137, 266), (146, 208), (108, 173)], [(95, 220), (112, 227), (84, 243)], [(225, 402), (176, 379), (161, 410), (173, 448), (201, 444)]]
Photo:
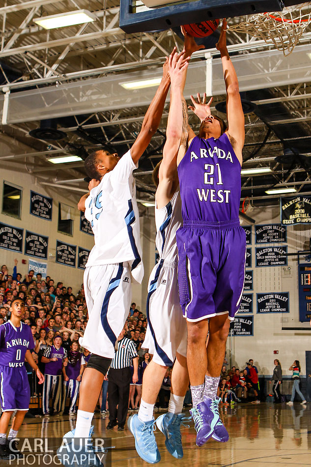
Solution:
[(180, 434), (180, 425), (183, 423), (183, 420), (185, 420), (183, 413), (170, 412), (164, 413), (156, 419), (157, 427), (166, 437), (166, 448), (176, 459), (181, 459), (184, 455)]

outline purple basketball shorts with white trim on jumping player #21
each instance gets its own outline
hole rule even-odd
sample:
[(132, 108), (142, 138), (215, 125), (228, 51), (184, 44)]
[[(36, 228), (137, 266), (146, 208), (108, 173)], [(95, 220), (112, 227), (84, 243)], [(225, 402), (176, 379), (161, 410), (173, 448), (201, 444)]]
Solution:
[(228, 313), (233, 321), (242, 298), (246, 237), (239, 219), (184, 221), (176, 234), (180, 305), (188, 321)]

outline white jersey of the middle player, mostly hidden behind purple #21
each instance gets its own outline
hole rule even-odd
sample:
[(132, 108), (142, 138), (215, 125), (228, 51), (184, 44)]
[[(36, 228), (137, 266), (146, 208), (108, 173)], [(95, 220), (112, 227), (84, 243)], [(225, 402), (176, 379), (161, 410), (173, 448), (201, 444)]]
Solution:
[(179, 190), (170, 202), (161, 209), (154, 209), (157, 228), (156, 247), (161, 259), (175, 261), (177, 258), (176, 232), (182, 226), (181, 199)]

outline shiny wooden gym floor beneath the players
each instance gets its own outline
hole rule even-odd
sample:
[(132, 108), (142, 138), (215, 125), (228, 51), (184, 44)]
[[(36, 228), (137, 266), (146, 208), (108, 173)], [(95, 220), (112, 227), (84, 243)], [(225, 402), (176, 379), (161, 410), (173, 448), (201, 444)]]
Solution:
[[(198, 448), (195, 444), (193, 422), (190, 428), (182, 427), (184, 457), (176, 460), (165, 448), (164, 436), (155, 432), (158, 448), (161, 453), (162, 466), (179, 467), (310, 467), (311, 466), (311, 404), (303, 408), (299, 403), (293, 407), (285, 404), (274, 405), (261, 403), (235, 404), (233, 408), (221, 407), (221, 417), (225, 422), (230, 439), (220, 443), (210, 439)], [(155, 417), (160, 412), (155, 413)], [(189, 412), (185, 411), (185, 416)], [(106, 430), (108, 416), (102, 418), (95, 413), (93, 423), (94, 436), (111, 438), (105, 445), (112, 446), (112, 465), (118, 467), (146, 467), (137, 455), (134, 438), (127, 426), (123, 432)], [(75, 417), (26, 418), (19, 436), (60, 438), (75, 426)], [(55, 440), (57, 441), (57, 440)], [(58, 442), (58, 441), (57, 441)], [(57, 448), (58, 446), (55, 446)], [(0, 461), (0, 465), (9, 465), (8, 461)], [(11, 462), (10, 465), (30, 465)], [(54, 466), (55, 464), (50, 464)], [(107, 466), (110, 467), (110, 466)]]

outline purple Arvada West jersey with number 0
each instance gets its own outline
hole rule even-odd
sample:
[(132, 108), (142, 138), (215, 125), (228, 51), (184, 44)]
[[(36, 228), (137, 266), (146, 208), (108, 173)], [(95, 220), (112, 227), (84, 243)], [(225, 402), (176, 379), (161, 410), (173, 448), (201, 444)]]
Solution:
[(27, 350), (34, 348), (28, 324), (15, 327), (11, 321), (0, 325), (0, 365), (10, 368), (23, 367)]

